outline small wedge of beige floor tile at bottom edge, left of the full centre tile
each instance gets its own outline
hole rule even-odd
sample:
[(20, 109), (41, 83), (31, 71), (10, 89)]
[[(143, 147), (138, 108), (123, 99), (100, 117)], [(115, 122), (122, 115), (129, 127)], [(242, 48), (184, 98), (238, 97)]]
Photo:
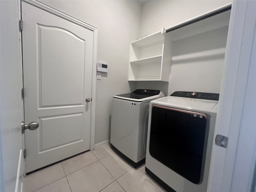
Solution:
[(66, 177), (55, 181), (35, 192), (71, 192), (68, 180)]

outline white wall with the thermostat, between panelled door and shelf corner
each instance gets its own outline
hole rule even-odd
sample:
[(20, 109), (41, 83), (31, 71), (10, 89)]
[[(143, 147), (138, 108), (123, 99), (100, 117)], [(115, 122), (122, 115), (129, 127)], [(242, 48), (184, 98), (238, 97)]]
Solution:
[(95, 144), (108, 140), (112, 96), (130, 92), (129, 48), (138, 38), (141, 5), (111, 0), (42, 2), (98, 28), (98, 61), (107, 62), (109, 70), (96, 84)]

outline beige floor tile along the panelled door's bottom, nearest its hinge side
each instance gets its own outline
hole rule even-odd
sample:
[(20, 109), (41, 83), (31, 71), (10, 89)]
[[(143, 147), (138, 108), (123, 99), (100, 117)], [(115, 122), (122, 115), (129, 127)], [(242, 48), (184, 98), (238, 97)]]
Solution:
[(38, 190), (64, 176), (65, 173), (60, 163), (44, 168), (25, 177), (25, 191)]

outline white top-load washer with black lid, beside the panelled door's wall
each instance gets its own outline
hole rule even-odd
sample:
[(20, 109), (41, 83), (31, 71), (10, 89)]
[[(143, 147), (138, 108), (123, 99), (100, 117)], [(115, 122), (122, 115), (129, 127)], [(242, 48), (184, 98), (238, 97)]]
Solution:
[(160, 97), (159, 90), (137, 89), (112, 98), (110, 146), (134, 167), (145, 162), (149, 103)]

